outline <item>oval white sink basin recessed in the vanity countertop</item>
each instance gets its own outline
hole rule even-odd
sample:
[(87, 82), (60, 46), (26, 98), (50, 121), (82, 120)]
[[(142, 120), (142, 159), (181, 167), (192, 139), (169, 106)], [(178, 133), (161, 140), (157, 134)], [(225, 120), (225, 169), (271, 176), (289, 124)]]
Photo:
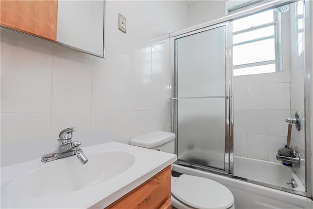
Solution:
[(133, 154), (123, 151), (86, 155), (89, 161), (84, 165), (76, 156), (60, 159), (16, 178), (1, 189), (6, 187), (9, 194), (24, 197), (73, 192), (112, 179), (130, 168), (135, 161)]

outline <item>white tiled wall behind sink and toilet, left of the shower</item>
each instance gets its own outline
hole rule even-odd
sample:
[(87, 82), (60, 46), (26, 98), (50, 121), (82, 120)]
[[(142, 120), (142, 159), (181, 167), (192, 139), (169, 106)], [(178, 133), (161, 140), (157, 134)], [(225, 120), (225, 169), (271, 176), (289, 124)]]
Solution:
[[(123, 143), (169, 131), (169, 33), (187, 18), (184, 1), (106, 0), (105, 59), (1, 28), (1, 166), (19, 163), (2, 152), (6, 145), (50, 142), (70, 126), (76, 136), (110, 132)], [(36, 146), (34, 158), (52, 151)]]

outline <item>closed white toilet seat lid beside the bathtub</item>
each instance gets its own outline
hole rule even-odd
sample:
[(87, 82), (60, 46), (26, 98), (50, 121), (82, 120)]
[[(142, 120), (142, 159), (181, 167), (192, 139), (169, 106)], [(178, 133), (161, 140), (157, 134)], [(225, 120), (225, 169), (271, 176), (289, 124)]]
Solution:
[(227, 187), (186, 174), (172, 180), (172, 194), (180, 202), (197, 209), (228, 209), (234, 204), (234, 196)]

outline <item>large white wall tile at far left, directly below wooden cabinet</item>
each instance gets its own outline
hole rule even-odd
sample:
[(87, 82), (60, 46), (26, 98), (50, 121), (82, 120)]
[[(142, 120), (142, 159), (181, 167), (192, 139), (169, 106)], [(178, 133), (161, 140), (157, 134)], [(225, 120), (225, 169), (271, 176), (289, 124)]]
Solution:
[(49, 112), (51, 75), (52, 44), (23, 42), (22, 34), (1, 29), (2, 113)]

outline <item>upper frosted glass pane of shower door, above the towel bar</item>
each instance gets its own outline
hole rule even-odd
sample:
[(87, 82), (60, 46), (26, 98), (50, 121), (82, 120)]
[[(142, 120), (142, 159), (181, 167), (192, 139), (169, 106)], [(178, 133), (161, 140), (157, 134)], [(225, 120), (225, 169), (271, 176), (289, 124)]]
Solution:
[(176, 40), (177, 96), (225, 95), (226, 26)]

